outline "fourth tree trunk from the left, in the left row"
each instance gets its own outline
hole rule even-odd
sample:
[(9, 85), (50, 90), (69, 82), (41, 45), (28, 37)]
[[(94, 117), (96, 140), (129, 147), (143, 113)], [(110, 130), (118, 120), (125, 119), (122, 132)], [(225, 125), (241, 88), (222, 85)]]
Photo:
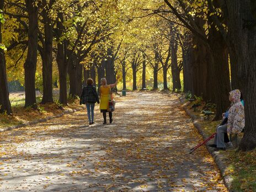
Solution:
[(57, 29), (56, 29), (56, 38), (57, 38), (57, 56), (56, 61), (58, 65), (58, 78), (60, 81), (60, 96), (58, 101), (63, 104), (67, 105), (67, 67), (68, 62), (66, 60), (66, 42), (62, 41), (59, 42), (60, 37), (63, 33), (63, 14), (58, 13), (58, 20), (57, 20)]

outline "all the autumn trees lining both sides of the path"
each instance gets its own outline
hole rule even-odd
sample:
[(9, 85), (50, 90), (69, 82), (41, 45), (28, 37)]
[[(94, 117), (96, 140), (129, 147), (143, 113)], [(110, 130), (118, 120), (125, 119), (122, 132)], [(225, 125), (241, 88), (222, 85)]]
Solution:
[(67, 82), (74, 96), (81, 92), (82, 79), (106, 77), (112, 83), (121, 73), (123, 88), (132, 76), (137, 89), (140, 71), (142, 88), (147, 74), (157, 88), (162, 70), (164, 89), (170, 71), (175, 90), (181, 88), (183, 71), (184, 90), (217, 105), (215, 120), (227, 109), (231, 88), (242, 90), (246, 132), (240, 147), (256, 146), (253, 0), (0, 1), (6, 18), (0, 38), (7, 49), (1, 46), (1, 112), (11, 113), (7, 75), (24, 79), (25, 106), (36, 108), (35, 87), (40, 84), (41, 103), (53, 102), (55, 71), (62, 104), (67, 104)]

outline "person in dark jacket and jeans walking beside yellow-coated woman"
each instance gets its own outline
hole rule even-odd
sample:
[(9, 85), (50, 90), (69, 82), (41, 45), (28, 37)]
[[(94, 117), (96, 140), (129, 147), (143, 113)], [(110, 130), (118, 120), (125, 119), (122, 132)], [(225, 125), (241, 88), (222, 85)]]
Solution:
[(99, 104), (99, 96), (93, 83), (93, 79), (87, 79), (87, 86), (83, 87), (80, 97), (80, 105), (86, 104), (89, 125), (94, 124), (94, 106), (96, 102)]

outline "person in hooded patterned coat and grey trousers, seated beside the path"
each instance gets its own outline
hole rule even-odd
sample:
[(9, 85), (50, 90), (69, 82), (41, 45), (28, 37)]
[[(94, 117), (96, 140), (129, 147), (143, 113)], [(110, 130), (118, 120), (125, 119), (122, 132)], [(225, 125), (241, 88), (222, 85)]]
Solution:
[(244, 127), (244, 107), (240, 100), (241, 93), (238, 89), (232, 90), (229, 95), (231, 102), (230, 109), (228, 109), (228, 121), (225, 125), (218, 125), (216, 128), (216, 135), (214, 137), (214, 144), (210, 147), (216, 147), (218, 150), (226, 150), (224, 134), (237, 134), (243, 130)]

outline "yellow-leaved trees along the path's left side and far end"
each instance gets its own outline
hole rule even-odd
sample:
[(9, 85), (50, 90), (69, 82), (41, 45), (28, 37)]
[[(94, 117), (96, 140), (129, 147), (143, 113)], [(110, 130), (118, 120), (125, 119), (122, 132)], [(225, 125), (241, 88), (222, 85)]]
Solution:
[[(147, 65), (153, 68), (154, 88), (158, 86), (158, 71), (162, 68), (167, 89), (167, 70), (172, 66), (177, 82), (173, 89), (180, 89), (182, 65), (178, 66), (177, 60), (178, 36), (172, 33), (177, 26), (158, 17), (136, 18), (143, 6), (145, 2), (136, 1), (130, 4), (125, 1), (2, 1), (6, 21), (1, 35), (7, 49), (7, 52), (2, 50), (2, 66), (5, 69), (7, 63), (9, 79), (24, 83), (25, 107), (36, 108), (36, 87), (42, 89), (42, 104), (54, 102), (53, 63), (57, 64), (61, 104), (67, 104), (67, 82), (69, 95), (73, 97), (80, 95), (83, 78), (92, 77), (95, 81), (98, 75), (98, 81), (106, 77), (108, 82), (114, 82), (121, 67), (124, 89), (130, 68), (133, 89), (137, 89), (139, 70), (142, 70), (142, 88), (146, 88)], [(1, 84), (5, 85), (2, 89), (5, 96), (1, 97), (1, 111), (10, 114), (6, 71), (3, 73)]]

